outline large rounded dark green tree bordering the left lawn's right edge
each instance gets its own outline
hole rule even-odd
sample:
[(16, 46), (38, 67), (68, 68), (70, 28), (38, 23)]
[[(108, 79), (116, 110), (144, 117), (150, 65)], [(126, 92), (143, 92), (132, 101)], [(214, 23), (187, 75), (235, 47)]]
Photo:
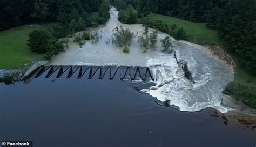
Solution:
[(28, 46), (35, 53), (44, 54), (50, 39), (54, 37), (46, 30), (35, 30), (29, 34)]

